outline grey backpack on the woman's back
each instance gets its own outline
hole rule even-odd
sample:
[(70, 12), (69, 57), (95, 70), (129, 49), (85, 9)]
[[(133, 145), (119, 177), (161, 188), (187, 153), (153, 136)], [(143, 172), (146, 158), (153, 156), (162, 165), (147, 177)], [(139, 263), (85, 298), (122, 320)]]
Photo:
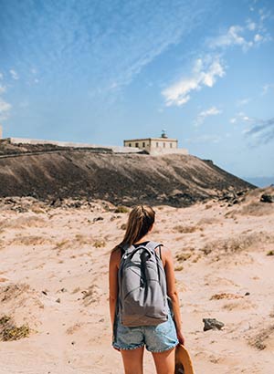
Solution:
[(155, 249), (161, 244), (125, 245), (119, 268), (121, 324), (155, 326), (168, 318), (163, 263)]

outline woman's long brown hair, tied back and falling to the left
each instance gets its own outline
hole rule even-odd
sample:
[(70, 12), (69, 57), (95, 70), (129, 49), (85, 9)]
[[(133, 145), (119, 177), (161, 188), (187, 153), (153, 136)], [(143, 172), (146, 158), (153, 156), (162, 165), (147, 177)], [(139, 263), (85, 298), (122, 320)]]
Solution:
[(126, 232), (118, 246), (132, 245), (147, 234), (155, 221), (155, 212), (148, 205), (137, 205), (132, 208), (127, 222)]

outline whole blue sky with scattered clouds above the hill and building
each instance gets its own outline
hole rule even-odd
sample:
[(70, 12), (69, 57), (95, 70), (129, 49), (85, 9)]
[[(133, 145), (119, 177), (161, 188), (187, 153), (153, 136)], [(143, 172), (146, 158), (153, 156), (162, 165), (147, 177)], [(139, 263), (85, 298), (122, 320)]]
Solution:
[(158, 137), (274, 183), (273, 0), (0, 0), (4, 137)]

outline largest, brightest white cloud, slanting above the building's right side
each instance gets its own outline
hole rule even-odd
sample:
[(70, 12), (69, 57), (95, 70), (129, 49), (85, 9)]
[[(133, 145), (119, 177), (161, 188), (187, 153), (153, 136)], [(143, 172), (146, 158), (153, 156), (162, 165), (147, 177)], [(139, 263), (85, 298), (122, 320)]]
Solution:
[(215, 60), (211, 59), (210, 62), (198, 58), (190, 77), (183, 78), (162, 91), (165, 105), (168, 107), (172, 105), (182, 106), (191, 98), (190, 92), (198, 91), (204, 86), (213, 87), (216, 78), (224, 76), (225, 68), (222, 66), (219, 57), (215, 57)]

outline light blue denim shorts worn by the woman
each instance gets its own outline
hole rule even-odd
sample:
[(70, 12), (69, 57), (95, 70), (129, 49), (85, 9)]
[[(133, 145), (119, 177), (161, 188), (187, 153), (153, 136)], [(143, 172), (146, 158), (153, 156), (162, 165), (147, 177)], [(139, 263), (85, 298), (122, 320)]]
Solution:
[(126, 327), (117, 317), (112, 346), (118, 349), (135, 349), (145, 346), (150, 352), (163, 352), (178, 343), (174, 320), (168, 315), (167, 321), (157, 326)]

